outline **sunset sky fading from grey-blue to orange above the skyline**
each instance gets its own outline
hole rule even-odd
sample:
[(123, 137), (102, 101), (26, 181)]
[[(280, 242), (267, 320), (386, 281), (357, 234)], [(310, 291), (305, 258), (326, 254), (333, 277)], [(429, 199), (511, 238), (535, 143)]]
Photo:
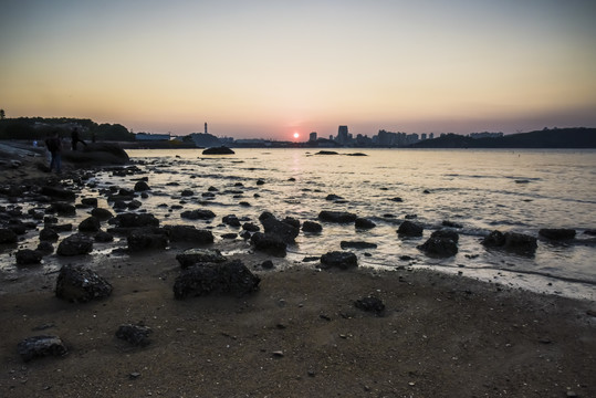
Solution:
[(0, 0), (0, 108), (292, 139), (596, 126), (595, 0)]

